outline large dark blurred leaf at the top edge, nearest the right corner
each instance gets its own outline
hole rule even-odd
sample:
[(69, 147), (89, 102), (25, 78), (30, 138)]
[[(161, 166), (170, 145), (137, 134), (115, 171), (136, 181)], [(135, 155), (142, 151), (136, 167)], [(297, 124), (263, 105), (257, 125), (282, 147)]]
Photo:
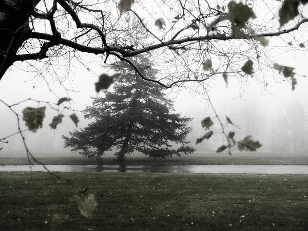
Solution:
[(283, 26), (288, 21), (293, 20), (298, 15), (299, 2), (294, 0), (285, 0), (279, 10), (280, 26)]

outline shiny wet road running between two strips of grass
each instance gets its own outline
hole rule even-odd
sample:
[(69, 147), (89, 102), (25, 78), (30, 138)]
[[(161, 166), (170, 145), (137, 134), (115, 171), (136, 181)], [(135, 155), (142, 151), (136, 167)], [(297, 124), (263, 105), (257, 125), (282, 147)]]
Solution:
[[(293, 174), (308, 175), (308, 165), (46, 165), (50, 171), (61, 172), (171, 172), (210, 174)], [(43, 166), (34, 165), (32, 171), (47, 171)], [(0, 166), (0, 171), (30, 171), (28, 165)]]

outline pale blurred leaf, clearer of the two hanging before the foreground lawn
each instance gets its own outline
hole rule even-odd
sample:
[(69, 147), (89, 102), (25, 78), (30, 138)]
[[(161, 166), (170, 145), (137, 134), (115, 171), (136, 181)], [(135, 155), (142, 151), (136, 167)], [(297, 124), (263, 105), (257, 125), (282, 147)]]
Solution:
[(80, 196), (73, 196), (72, 200), (78, 205), (81, 215), (89, 218), (92, 216), (94, 208), (98, 205), (93, 194), (81, 194)]

